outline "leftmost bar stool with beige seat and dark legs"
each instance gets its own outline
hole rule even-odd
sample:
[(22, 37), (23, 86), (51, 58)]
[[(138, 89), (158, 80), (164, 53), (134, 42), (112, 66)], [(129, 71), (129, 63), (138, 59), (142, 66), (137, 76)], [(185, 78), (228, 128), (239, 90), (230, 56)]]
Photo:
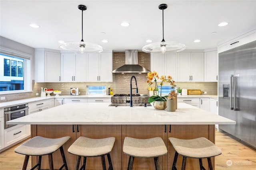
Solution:
[(25, 155), (22, 170), (26, 170), (28, 166), (29, 156), (39, 156), (38, 163), (31, 170), (34, 170), (36, 167), (38, 167), (38, 170), (40, 170), (42, 155), (48, 155), (50, 170), (54, 170), (52, 153), (60, 149), (60, 154), (62, 156), (63, 162), (63, 165), (60, 167), (60, 170), (64, 167), (66, 170), (68, 170), (62, 145), (64, 145), (64, 143), (66, 143), (69, 139), (69, 136), (56, 139), (36, 136), (18, 146), (16, 149), (14, 149), (14, 152)]

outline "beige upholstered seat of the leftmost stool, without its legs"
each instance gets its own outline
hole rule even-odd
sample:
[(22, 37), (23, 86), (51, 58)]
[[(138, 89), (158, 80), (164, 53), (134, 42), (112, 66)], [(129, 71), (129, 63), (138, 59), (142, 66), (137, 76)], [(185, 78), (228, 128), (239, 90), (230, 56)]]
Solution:
[(14, 149), (14, 152), (30, 156), (46, 155), (58, 150), (69, 139), (70, 137), (50, 139), (36, 136)]

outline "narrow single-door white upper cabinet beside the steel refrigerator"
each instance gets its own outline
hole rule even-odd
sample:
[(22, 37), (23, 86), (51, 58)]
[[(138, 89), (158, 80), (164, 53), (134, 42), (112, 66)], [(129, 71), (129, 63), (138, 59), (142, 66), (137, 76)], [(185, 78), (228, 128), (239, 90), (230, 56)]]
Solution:
[(204, 53), (204, 81), (218, 81), (218, 54), (217, 51)]

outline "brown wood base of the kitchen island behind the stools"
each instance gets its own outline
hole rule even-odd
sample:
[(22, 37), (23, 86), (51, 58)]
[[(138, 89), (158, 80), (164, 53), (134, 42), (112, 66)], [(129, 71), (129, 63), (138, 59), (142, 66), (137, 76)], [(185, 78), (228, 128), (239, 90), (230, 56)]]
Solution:
[[(159, 161), (162, 170), (171, 170), (175, 150), (172, 147), (169, 137), (180, 139), (194, 139), (205, 137), (215, 143), (215, 125), (31, 125), (31, 137), (42, 136), (48, 138), (58, 138), (70, 136), (70, 140), (63, 145), (63, 149), (68, 164), (68, 169), (74, 170), (76, 166), (76, 156), (68, 153), (68, 148), (80, 136), (89, 138), (115, 137), (116, 141), (110, 153), (114, 170), (126, 170), (129, 156), (123, 154), (122, 145), (125, 137), (147, 139), (161, 137), (168, 149), (167, 155), (161, 156)], [(107, 157), (105, 158), (107, 160)], [(32, 156), (32, 166), (36, 165), (38, 158)], [(54, 169), (62, 165), (60, 151), (53, 153)], [(82, 163), (81, 163), (82, 164)], [(214, 166), (214, 158), (212, 158)], [(182, 156), (178, 156), (176, 167), (181, 169)], [(203, 165), (208, 169), (207, 159), (203, 159)], [(106, 161), (108, 167), (108, 161)], [(42, 169), (48, 169), (48, 156), (42, 156)], [(86, 170), (102, 169), (100, 157), (87, 158)], [(186, 170), (199, 168), (199, 160), (187, 158)], [(154, 159), (134, 158), (133, 170), (155, 170)]]

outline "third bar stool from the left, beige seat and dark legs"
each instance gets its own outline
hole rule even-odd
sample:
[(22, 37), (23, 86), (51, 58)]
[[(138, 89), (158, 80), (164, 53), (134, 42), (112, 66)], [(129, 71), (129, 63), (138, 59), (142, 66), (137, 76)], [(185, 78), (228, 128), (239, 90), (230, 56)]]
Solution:
[(150, 139), (125, 137), (123, 152), (130, 156), (127, 170), (132, 170), (134, 157), (154, 158), (156, 170), (161, 170), (158, 157), (167, 154), (167, 149), (160, 137)]

